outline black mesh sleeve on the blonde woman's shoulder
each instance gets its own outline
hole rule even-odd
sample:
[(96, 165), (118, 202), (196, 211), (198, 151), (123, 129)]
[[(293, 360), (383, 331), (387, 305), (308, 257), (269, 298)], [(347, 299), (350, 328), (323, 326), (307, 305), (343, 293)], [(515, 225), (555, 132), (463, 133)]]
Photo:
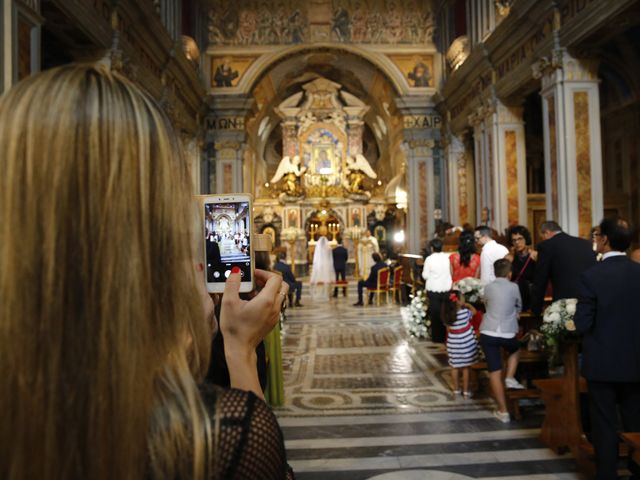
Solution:
[(294, 478), (287, 464), (282, 431), (264, 401), (251, 392), (210, 387), (203, 389), (203, 396), (214, 430), (216, 423), (218, 425), (217, 441), (214, 441), (216, 479)]

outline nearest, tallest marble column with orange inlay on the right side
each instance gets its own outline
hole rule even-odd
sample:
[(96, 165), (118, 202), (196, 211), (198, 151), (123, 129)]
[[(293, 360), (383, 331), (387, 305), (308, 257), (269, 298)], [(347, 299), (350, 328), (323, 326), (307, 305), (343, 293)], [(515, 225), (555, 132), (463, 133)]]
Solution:
[(584, 238), (604, 210), (597, 70), (597, 61), (565, 49), (533, 65), (542, 82), (547, 217)]

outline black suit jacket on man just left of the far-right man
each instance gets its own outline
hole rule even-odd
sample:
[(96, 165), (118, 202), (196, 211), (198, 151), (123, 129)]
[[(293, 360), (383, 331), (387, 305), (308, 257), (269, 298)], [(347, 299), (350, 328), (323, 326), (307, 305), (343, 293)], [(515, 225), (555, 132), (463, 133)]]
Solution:
[(547, 284), (551, 281), (553, 300), (576, 298), (578, 279), (587, 268), (595, 265), (596, 255), (591, 243), (560, 232), (538, 244), (531, 310), (542, 312)]

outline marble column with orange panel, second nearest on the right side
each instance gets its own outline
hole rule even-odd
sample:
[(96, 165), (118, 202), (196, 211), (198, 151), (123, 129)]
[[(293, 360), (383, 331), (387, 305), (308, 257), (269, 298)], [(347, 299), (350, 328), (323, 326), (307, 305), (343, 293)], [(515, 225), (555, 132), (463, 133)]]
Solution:
[[(474, 128), (479, 223), (498, 232), (526, 224), (527, 172), (522, 109), (495, 99), (470, 117)], [(488, 218), (487, 218), (488, 217)]]

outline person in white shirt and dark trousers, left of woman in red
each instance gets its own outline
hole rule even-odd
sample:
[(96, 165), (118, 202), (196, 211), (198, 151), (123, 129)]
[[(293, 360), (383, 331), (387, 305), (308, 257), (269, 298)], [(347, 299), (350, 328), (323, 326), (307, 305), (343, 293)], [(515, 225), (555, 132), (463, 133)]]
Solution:
[(425, 290), (429, 297), (429, 318), (431, 319), (431, 341), (444, 343), (446, 327), (442, 323), (440, 310), (453, 282), (451, 280), (451, 262), (449, 255), (442, 253), (442, 240), (434, 239), (429, 243), (431, 255), (424, 261), (422, 278), (425, 279)]

